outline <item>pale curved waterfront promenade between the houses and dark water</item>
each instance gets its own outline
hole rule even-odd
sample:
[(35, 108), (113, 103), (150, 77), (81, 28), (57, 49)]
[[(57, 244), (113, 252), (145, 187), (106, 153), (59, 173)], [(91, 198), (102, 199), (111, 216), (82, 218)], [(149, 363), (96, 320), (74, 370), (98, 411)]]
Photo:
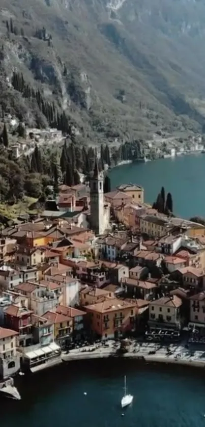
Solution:
[[(167, 347), (171, 354), (167, 354)], [(95, 349), (95, 350), (94, 350)], [(153, 342), (139, 343), (132, 341), (129, 352), (119, 354), (120, 343), (114, 346), (114, 341), (109, 340), (106, 347), (101, 344), (90, 345), (83, 349), (71, 350), (69, 354), (62, 355), (63, 362), (82, 359), (97, 359), (108, 357), (123, 357), (144, 359), (146, 362), (174, 363), (189, 366), (205, 367), (205, 347), (190, 345), (185, 348), (185, 342), (162, 345)], [(152, 354), (150, 354), (152, 352)], [(155, 352), (155, 353), (153, 353)]]

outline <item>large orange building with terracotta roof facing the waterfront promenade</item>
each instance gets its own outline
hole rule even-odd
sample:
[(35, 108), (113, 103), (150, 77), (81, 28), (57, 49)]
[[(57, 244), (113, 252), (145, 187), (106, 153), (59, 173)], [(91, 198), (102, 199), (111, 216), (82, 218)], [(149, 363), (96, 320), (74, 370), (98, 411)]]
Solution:
[(84, 310), (89, 313), (93, 334), (101, 338), (118, 338), (135, 330), (137, 307), (134, 301), (106, 299), (101, 303), (85, 306)]

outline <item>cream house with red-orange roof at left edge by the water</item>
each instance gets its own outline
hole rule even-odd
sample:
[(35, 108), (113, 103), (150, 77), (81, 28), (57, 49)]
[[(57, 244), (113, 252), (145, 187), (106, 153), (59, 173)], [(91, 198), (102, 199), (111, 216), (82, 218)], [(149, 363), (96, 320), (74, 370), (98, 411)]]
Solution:
[(8, 378), (20, 368), (17, 354), (18, 332), (0, 328), (0, 377)]

